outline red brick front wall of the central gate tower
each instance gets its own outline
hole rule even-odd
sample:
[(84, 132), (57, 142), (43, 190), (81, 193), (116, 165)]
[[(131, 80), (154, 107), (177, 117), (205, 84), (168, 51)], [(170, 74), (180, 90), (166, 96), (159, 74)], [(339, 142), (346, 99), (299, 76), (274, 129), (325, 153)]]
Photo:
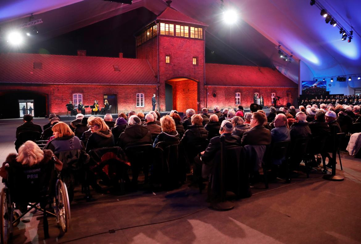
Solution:
[[(197, 101), (200, 102), (199, 107), (205, 106), (204, 99), (204, 40), (195, 40), (188, 38), (170, 37), (170, 36), (159, 36), (159, 104), (160, 110), (165, 110), (165, 82), (169, 79), (176, 77), (186, 77), (197, 80)], [(165, 56), (170, 56), (170, 63), (166, 64)], [(193, 65), (192, 58), (197, 57), (197, 65)], [(189, 83), (194, 84), (194, 83)], [(183, 84), (184, 85), (184, 84)], [(182, 86), (183, 86), (182, 85)], [(183, 88), (182, 88), (183, 89)], [(195, 90), (194, 87), (190, 88)], [(182, 92), (177, 93), (177, 98), (180, 101), (186, 101), (189, 97), (194, 99), (193, 94)], [(173, 103), (175, 104), (175, 103)], [(181, 105), (180, 108), (185, 106), (194, 107), (193, 101), (190, 104)], [(185, 112), (182, 111), (182, 112)]]

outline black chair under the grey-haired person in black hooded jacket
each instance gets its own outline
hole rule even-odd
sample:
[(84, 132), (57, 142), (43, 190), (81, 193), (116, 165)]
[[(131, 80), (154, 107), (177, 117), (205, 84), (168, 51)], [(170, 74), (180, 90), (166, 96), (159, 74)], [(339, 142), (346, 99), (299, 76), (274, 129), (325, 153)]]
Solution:
[[(110, 105), (111, 106), (111, 105)], [(138, 184), (139, 171), (143, 169), (144, 182), (148, 182), (149, 166), (153, 162), (153, 146), (151, 144), (133, 145), (125, 148), (125, 154), (131, 164), (132, 184)]]

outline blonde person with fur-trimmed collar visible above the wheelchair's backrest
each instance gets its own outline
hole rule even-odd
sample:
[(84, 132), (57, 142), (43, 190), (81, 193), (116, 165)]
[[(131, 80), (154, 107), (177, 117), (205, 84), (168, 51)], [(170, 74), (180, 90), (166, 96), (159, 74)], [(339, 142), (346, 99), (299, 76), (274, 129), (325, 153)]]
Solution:
[(55, 167), (58, 171), (61, 171), (63, 164), (56, 158), (51, 150), (40, 149), (34, 141), (26, 141), (19, 147), (19, 153), (10, 153), (6, 157), (3, 167), (0, 168), (0, 176), (6, 179), (8, 177), (6, 167), (23, 165), (23, 166), (34, 166), (48, 164), (54, 158)]

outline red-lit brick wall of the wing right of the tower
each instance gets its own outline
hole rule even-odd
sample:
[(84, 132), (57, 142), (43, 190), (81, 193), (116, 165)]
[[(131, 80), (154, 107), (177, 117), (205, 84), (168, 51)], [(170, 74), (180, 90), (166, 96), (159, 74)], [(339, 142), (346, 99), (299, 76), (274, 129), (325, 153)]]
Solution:
[[(263, 96), (265, 106), (271, 106), (271, 93), (276, 93), (276, 96), (283, 97), (283, 104), (287, 104), (287, 93), (291, 93), (291, 104), (297, 102), (297, 88), (260, 88), (260, 87), (215, 87), (208, 86), (208, 108), (212, 108), (215, 105), (221, 108), (236, 108), (235, 93), (241, 93), (241, 105), (244, 108), (249, 108), (249, 105), (253, 103), (253, 93), (258, 92)], [(216, 97), (213, 97), (213, 93), (216, 93)], [(282, 103), (282, 99), (280, 99)]]

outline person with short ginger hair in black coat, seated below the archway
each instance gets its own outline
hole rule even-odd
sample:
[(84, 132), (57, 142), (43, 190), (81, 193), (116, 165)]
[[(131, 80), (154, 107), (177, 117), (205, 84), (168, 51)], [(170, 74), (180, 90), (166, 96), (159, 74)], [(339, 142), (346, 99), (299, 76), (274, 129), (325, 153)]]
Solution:
[(188, 130), (184, 132), (181, 139), (181, 144), (185, 147), (189, 144), (196, 144), (200, 139), (208, 138), (208, 131), (202, 125), (202, 116), (200, 114), (193, 114), (191, 117), (192, 125), (188, 126)]

